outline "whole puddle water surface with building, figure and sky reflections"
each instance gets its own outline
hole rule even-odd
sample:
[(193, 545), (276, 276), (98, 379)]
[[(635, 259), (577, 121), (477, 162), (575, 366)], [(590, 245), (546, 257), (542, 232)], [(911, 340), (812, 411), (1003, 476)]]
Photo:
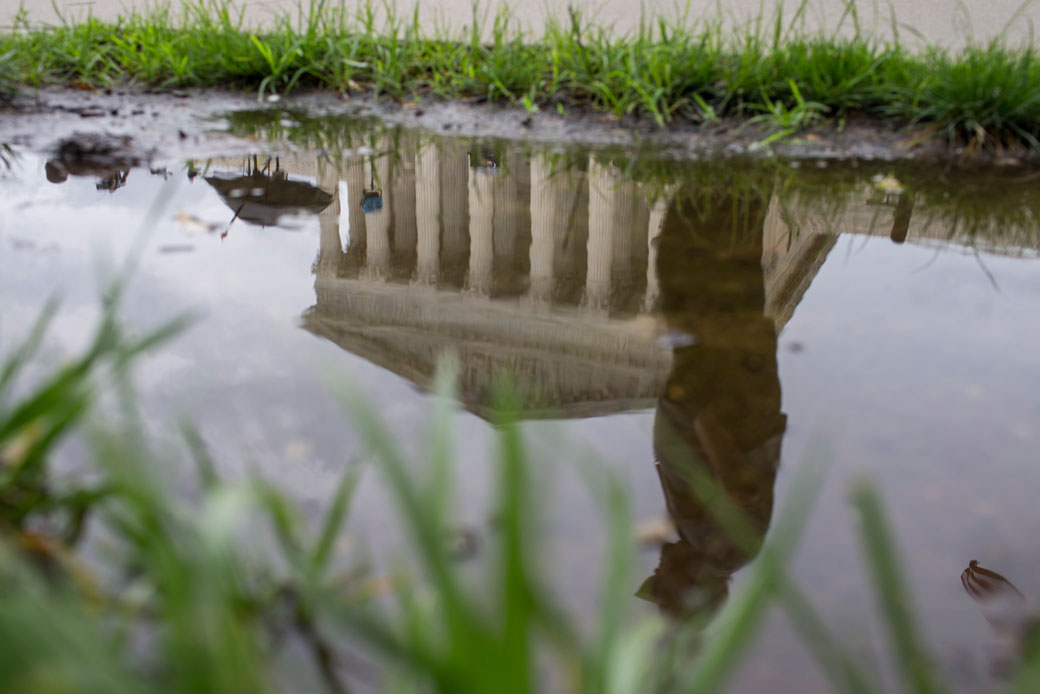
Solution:
[[(360, 388), (418, 465), (425, 393), (453, 352), (458, 511), (477, 550), (492, 385), (511, 375), (545, 473), (544, 566), (584, 618), (605, 529), (575, 461), (599, 459), (632, 494), (633, 606), (703, 618), (753, 558), (684, 491), (684, 466), (700, 461), (765, 537), (822, 440), (796, 580), (857, 661), (884, 662), (848, 505), (855, 479), (877, 480), (935, 651), (960, 689), (993, 686), (1003, 635), (974, 599), (986, 574), (962, 571), (978, 561), (1040, 594), (1040, 197), (1026, 174), (683, 163), (292, 113), (229, 123), (296, 143), (151, 172), (10, 153), (5, 344), (55, 292), (52, 356), (81, 343), (99, 265), (142, 243), (128, 319), (199, 316), (139, 369), (150, 426), (170, 436), (190, 415), (228, 473), (259, 469), (312, 510), (357, 446), (330, 384)], [(374, 554), (393, 544), (373, 475), (353, 513)], [(731, 689), (826, 687), (777, 613)]]

